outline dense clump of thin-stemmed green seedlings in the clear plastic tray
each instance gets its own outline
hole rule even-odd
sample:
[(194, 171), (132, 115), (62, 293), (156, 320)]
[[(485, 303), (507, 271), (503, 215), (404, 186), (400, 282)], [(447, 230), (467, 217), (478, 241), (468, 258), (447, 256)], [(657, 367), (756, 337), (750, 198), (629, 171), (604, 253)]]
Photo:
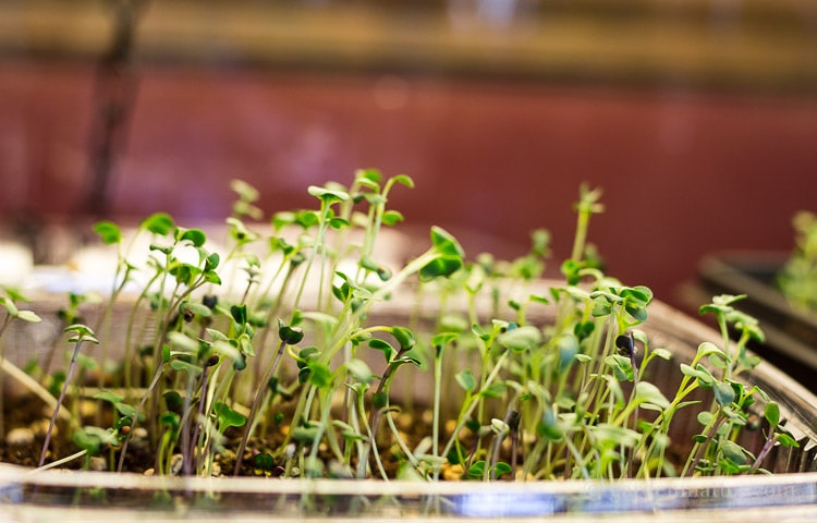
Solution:
[[(563, 280), (541, 289), (545, 230), (504, 262), (470, 259), (434, 227), (425, 252), (388, 263), (377, 240), (402, 221), (388, 205), (392, 190), (413, 186), (407, 177), (362, 170), (349, 187), (312, 186), (316, 209), (278, 212), (266, 226), (257, 192), (231, 186), (225, 252), (167, 214), (139, 224), (133, 238), (149, 245), (141, 254), (114, 223), (95, 227), (118, 259), (97, 329), (102, 361), (112, 311), (127, 301), (130, 313), (112, 377), (125, 392), (96, 396), (114, 414), (108, 428), (72, 427), (84, 455), (106, 448), (125, 470), (143, 427), (157, 474), (206, 476), (220, 462), (259, 476), (620, 479), (757, 473), (773, 448), (796, 445), (777, 405), (740, 380), (757, 363), (748, 340), (763, 337), (735, 308), (740, 296), (702, 307), (722, 337), (676, 362), (678, 390), (650, 381), (670, 352), (641, 329), (653, 292), (606, 275), (588, 243), (590, 217), (603, 210), (597, 188), (580, 191)], [(411, 306), (392, 323), (381, 307), (398, 300)], [(9, 321), (14, 309), (3, 303)], [(81, 346), (97, 342), (83, 325), (68, 330), (75, 345), (52, 425)], [(400, 396), (424, 378), (425, 404)], [(763, 446), (743, 448), (739, 435), (761, 405)], [(682, 409), (698, 410), (700, 433), (688, 457), (670, 462)], [(424, 419), (425, 433), (407, 434)]]

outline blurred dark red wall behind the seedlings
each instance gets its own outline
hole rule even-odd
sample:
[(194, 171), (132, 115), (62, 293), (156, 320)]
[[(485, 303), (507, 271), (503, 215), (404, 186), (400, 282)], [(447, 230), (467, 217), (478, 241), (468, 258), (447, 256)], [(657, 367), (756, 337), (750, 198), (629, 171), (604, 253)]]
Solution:
[[(112, 217), (220, 220), (242, 178), (275, 211), (359, 167), (407, 173), (393, 206), (472, 254), (522, 254), (546, 227), (572, 242), (580, 183), (605, 190), (590, 240), (610, 270), (680, 304), (702, 255), (789, 250), (817, 210), (817, 98), (497, 80), (143, 69), (111, 173)], [(0, 212), (7, 224), (87, 211), (94, 70), (0, 63)], [(554, 264), (554, 266), (558, 264)]]

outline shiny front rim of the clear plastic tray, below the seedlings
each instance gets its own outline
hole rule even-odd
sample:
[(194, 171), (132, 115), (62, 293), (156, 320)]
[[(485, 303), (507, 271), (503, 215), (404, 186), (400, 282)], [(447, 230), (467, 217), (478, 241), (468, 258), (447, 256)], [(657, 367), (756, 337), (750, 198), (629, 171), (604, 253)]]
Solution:
[[(0, 467), (0, 515), (11, 521), (471, 520), (562, 516), (624, 521), (813, 521), (817, 475), (599, 482), (406, 483), (178, 478), (108, 473), (21, 474)], [(743, 519), (742, 519), (743, 518)], [(656, 521), (656, 520), (650, 520)]]

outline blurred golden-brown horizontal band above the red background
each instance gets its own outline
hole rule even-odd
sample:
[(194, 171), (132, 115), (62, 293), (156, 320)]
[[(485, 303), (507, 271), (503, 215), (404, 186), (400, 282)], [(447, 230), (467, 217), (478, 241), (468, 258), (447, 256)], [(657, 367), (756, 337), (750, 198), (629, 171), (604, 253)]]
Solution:
[(8, 1), (0, 52), (99, 57), (121, 4), (141, 63), (817, 87), (809, 0)]

